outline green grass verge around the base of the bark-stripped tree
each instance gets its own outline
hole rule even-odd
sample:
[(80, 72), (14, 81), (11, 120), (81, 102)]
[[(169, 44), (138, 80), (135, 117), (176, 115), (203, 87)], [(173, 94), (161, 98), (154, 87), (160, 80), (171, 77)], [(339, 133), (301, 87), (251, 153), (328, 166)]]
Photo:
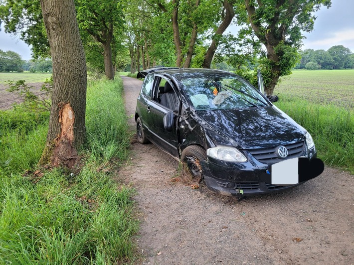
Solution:
[(135, 261), (135, 191), (114, 180), (130, 143), (121, 93), (121, 80), (89, 84), (84, 165), (75, 174), (36, 168), (48, 114), (0, 112), (0, 264)]

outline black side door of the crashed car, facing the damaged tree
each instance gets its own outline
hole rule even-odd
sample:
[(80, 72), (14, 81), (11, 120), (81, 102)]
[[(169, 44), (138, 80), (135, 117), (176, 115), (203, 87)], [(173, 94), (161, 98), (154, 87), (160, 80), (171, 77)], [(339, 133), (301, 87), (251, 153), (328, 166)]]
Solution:
[[(175, 109), (169, 108), (162, 105), (161, 98), (163, 97), (164, 87), (166, 83), (172, 86), (173, 93), (177, 97), (177, 102)], [(150, 108), (150, 118), (152, 120), (153, 126), (150, 127), (152, 134), (152, 141), (158, 145), (164, 151), (170, 153), (171, 155), (178, 157), (178, 140), (177, 140), (177, 115), (180, 104), (180, 97), (177, 96), (176, 85), (168, 78), (162, 75), (155, 75), (154, 89), (152, 100), (149, 102)], [(175, 111), (175, 123), (172, 131), (167, 131), (164, 126), (164, 117), (171, 112)]]

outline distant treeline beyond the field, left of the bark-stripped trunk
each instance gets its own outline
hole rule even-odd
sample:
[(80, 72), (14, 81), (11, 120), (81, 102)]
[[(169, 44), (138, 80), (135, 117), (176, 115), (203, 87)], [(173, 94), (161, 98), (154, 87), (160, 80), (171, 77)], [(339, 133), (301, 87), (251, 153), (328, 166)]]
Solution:
[(51, 59), (22, 60), (21, 56), (14, 51), (0, 50), (0, 72), (51, 72)]

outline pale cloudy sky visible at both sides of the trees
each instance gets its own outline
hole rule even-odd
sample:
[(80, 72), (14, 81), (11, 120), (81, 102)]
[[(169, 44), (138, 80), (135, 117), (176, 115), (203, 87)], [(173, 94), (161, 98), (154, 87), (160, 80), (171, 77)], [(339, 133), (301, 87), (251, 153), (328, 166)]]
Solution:
[[(328, 50), (335, 45), (343, 45), (354, 52), (354, 0), (332, 0), (332, 7), (322, 7), (316, 13), (315, 28), (305, 33), (302, 49)], [(1, 25), (0, 50), (11, 50), (21, 55), (23, 60), (31, 58), (30, 48), (18, 36), (4, 32)]]

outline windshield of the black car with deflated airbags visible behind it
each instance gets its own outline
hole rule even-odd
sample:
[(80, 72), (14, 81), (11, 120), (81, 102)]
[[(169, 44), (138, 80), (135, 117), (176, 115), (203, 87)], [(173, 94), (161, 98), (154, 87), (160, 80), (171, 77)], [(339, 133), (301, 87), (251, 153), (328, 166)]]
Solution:
[(267, 106), (266, 100), (236, 76), (207, 76), (181, 80), (196, 110), (246, 109)]

